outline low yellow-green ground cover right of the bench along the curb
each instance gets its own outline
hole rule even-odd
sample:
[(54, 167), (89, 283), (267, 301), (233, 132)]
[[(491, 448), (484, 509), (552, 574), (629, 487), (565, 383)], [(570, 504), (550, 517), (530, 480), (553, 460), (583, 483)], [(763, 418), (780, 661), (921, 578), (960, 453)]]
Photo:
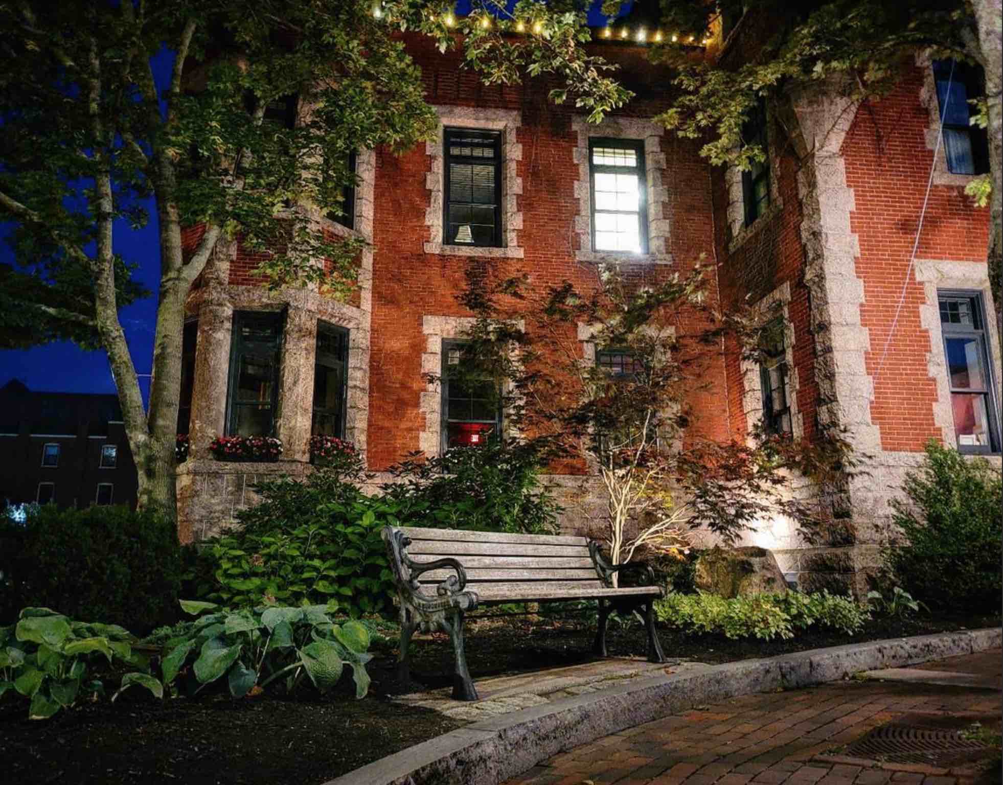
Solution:
[(658, 620), (687, 633), (721, 634), (732, 640), (793, 638), (811, 626), (859, 632), (870, 619), (852, 599), (815, 595), (750, 595), (725, 600), (717, 595), (669, 594), (655, 603)]

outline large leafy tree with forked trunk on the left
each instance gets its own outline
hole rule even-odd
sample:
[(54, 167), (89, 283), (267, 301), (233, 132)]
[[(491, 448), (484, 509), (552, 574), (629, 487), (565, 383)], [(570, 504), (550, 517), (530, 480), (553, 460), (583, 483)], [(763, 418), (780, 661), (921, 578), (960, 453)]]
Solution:
[[(486, 82), (557, 77), (552, 98), (596, 120), (630, 93), (581, 46), (585, 11), (489, 0), (463, 19), (421, 0), (0, 5), (0, 221), (13, 225), (14, 251), (0, 267), (2, 345), (103, 348), (139, 504), (173, 511), (185, 300), (218, 245), (239, 238), (267, 250), (260, 272), (273, 286), (323, 283), (347, 296), (361, 241), (332, 240), (315, 219), (342, 211), (349, 153), (407, 149), (435, 131), (397, 34), (461, 46)], [(531, 34), (503, 35), (517, 24)], [(151, 62), (164, 50), (170, 78), (158, 84)], [(273, 121), (290, 95), (300, 96), (297, 121)], [(118, 312), (146, 293), (112, 226), (143, 226), (149, 204), (160, 278), (144, 410)], [(194, 225), (204, 232), (183, 253), (183, 228)]]

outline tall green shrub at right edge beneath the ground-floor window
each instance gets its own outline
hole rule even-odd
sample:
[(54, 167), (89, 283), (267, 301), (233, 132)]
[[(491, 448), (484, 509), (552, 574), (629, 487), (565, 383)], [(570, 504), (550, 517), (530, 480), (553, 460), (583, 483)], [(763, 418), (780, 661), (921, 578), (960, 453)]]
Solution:
[(909, 472), (895, 499), (894, 522), (904, 547), (887, 563), (905, 592), (933, 609), (998, 614), (1000, 592), (1001, 480), (982, 458), (930, 442), (917, 472)]

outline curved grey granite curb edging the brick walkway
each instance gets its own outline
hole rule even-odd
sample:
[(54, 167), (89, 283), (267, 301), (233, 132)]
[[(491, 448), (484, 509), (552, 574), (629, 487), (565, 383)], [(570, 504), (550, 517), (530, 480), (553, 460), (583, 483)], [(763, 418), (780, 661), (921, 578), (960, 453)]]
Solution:
[(1003, 630), (871, 641), (659, 675), (483, 720), (324, 785), (496, 785), (553, 755), (703, 703), (999, 648)]

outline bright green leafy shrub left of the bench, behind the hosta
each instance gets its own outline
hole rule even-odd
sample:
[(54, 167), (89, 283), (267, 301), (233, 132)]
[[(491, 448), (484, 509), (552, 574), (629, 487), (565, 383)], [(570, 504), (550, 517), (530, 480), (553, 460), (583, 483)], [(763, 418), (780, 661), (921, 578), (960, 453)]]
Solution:
[(397, 506), (336, 472), (257, 486), (242, 527), (200, 546), (196, 596), (231, 608), (325, 605), (352, 617), (388, 611), (393, 590), (380, 530)]

